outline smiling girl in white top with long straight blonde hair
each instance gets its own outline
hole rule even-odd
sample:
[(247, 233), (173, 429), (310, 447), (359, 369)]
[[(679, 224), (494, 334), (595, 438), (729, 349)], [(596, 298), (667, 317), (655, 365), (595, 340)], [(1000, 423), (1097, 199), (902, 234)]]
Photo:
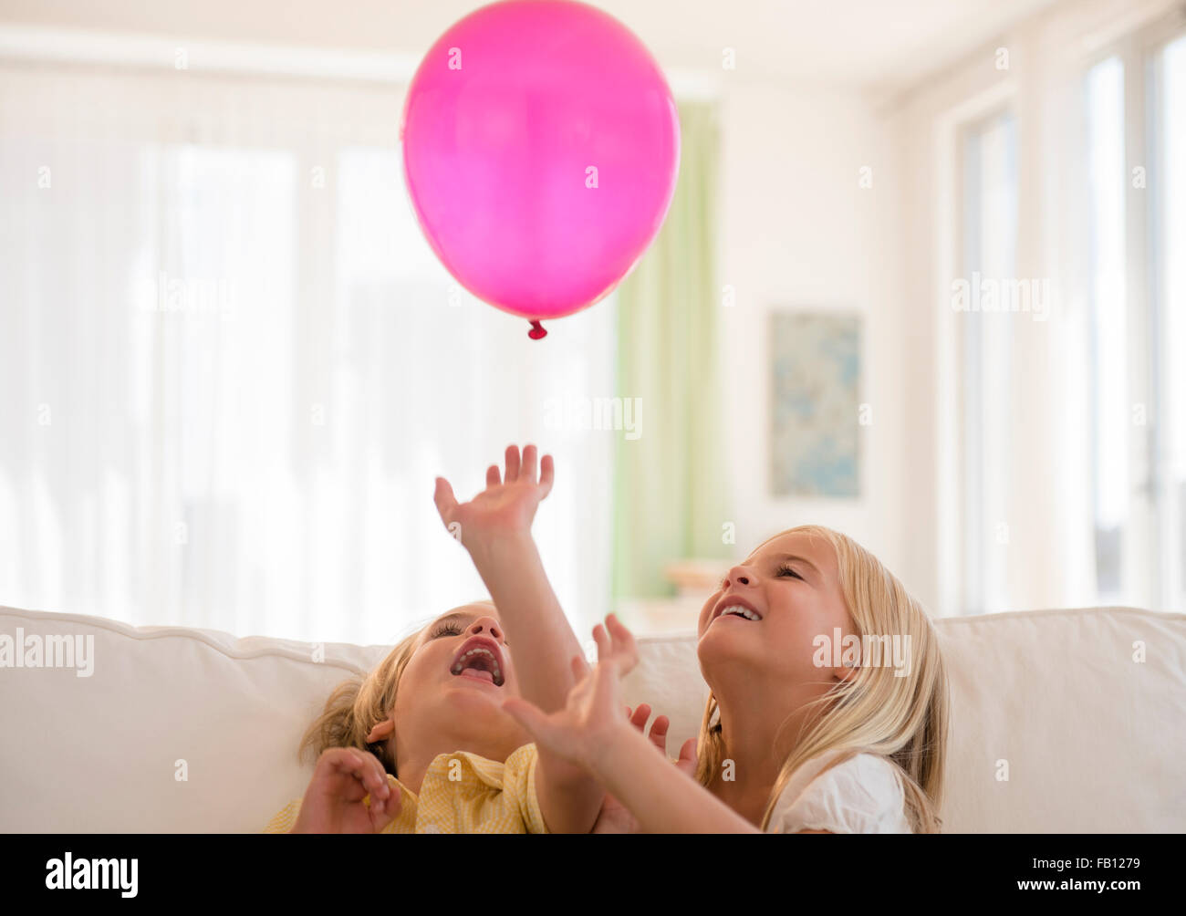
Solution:
[[(873, 554), (828, 528), (783, 532), (729, 570), (697, 629), (710, 694), (695, 748), (681, 752), (695, 755), (693, 778), (621, 718), (620, 678), (637, 654), (612, 615), (594, 629), (599, 663), (573, 660), (582, 680), (563, 710), (504, 708), (644, 831), (938, 832), (943, 659), (923, 608)], [(837, 637), (848, 651), (833, 651)], [(895, 637), (897, 653), (866, 650)]]

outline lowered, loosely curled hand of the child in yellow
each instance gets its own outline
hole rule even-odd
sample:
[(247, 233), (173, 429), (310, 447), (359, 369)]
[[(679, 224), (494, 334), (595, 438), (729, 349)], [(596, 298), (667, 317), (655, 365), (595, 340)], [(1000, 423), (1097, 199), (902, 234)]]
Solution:
[[(370, 795), (370, 806), (363, 799)], [(400, 813), (400, 789), (378, 758), (330, 748), (317, 761), (291, 833), (378, 833)]]

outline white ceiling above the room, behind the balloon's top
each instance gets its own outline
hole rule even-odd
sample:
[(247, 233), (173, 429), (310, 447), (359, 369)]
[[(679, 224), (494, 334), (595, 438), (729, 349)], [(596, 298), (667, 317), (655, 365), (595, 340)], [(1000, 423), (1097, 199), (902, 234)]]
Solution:
[[(1054, 0), (597, 0), (664, 66), (905, 89)], [(417, 55), (474, 0), (4, 0), (0, 21)]]

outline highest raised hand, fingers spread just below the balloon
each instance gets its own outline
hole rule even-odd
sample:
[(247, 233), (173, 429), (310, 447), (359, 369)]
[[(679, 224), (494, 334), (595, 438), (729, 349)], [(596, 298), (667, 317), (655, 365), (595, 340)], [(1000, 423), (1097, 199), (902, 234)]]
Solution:
[(536, 481), (536, 457), (534, 445), (523, 449), (522, 462), (517, 445), (506, 446), (505, 470), (502, 477), (498, 465), (486, 470), (486, 489), (470, 502), (459, 503), (453, 488), (444, 477), (436, 478), (433, 500), (441, 521), (466, 549), (489, 542), (499, 535), (527, 534), (531, 530), (535, 510), (551, 491), (555, 467), (551, 456), (546, 454), (538, 463), (540, 479)]

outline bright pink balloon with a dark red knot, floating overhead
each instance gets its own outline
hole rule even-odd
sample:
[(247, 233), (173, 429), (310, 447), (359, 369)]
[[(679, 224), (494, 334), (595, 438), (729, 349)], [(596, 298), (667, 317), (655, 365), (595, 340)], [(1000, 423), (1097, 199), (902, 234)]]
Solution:
[(593, 305), (630, 273), (680, 166), (658, 64), (617, 19), (572, 0), (504, 0), (453, 25), (416, 69), (400, 135), (441, 263), (533, 322)]

